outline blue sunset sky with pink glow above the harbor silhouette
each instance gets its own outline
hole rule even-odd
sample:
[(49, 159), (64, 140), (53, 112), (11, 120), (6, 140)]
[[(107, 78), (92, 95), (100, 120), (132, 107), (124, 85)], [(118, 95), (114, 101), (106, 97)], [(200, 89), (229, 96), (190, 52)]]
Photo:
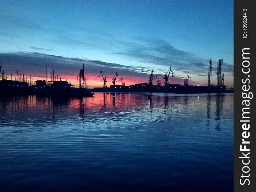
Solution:
[[(126, 85), (147, 83), (151, 69), (163, 85), (217, 84), (223, 59), (227, 88), (233, 87), (233, 1), (0, 1), (0, 62), (14, 73), (46, 79), (50, 73), (77, 86), (83, 63), (90, 87), (107, 86), (117, 72)], [(50, 75), (51, 76), (51, 75)], [(153, 84), (157, 82), (154, 81)], [(117, 84), (120, 84), (118, 82)]]

